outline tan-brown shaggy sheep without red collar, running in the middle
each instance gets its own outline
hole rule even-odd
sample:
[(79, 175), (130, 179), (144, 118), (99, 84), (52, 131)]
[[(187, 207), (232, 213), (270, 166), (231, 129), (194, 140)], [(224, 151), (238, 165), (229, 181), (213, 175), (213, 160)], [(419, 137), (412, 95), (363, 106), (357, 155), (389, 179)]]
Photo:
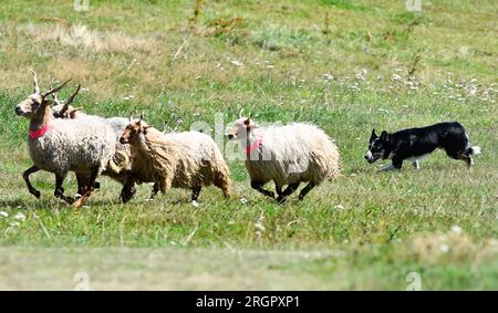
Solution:
[(185, 132), (164, 134), (141, 119), (126, 126), (120, 142), (132, 147), (128, 184), (155, 182), (151, 198), (170, 187), (191, 189), (197, 206), (201, 187), (215, 185), (230, 195), (229, 169), (216, 143), (206, 134)]

